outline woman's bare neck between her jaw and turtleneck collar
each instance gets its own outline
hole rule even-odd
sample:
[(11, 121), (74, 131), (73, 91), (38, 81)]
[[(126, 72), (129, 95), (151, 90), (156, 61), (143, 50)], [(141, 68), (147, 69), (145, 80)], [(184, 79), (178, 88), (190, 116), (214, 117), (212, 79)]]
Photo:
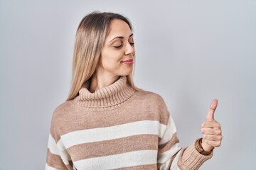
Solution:
[(98, 89), (102, 89), (102, 87), (113, 84), (115, 81), (117, 81), (117, 79), (119, 79), (119, 76), (96, 74), (95, 77), (92, 77), (91, 79), (89, 91), (93, 93)]

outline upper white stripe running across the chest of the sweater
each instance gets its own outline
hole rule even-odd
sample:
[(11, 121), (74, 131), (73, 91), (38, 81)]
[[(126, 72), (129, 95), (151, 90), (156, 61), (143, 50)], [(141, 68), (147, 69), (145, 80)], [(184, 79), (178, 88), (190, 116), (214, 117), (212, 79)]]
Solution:
[(61, 136), (65, 148), (88, 142), (114, 140), (133, 135), (162, 135), (166, 125), (154, 120), (143, 120), (105, 128), (94, 128), (69, 132)]

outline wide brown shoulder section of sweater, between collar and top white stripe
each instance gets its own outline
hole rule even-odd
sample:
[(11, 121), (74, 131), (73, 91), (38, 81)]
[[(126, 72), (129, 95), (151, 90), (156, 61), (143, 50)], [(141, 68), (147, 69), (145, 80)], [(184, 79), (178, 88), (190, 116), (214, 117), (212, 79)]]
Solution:
[(51, 134), (56, 142), (60, 136), (76, 130), (104, 128), (140, 120), (156, 120), (167, 125), (169, 112), (163, 99), (151, 92), (137, 91), (122, 106), (114, 110), (92, 111), (68, 101), (53, 114)]

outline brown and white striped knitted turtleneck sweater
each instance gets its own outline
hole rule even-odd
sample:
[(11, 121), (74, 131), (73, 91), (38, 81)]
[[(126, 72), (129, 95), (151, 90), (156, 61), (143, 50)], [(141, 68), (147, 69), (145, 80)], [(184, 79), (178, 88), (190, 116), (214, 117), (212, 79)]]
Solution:
[(181, 148), (161, 96), (120, 77), (55, 109), (46, 169), (198, 169), (212, 156)]

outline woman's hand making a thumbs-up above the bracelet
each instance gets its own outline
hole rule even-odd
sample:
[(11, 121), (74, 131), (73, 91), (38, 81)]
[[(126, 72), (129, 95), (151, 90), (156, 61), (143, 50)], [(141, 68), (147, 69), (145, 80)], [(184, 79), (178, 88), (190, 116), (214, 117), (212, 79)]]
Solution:
[(202, 123), (201, 132), (203, 134), (202, 147), (209, 152), (215, 147), (220, 147), (222, 135), (220, 123), (214, 120), (214, 112), (217, 108), (218, 101), (214, 99), (210, 104), (210, 109), (206, 116), (206, 121)]

